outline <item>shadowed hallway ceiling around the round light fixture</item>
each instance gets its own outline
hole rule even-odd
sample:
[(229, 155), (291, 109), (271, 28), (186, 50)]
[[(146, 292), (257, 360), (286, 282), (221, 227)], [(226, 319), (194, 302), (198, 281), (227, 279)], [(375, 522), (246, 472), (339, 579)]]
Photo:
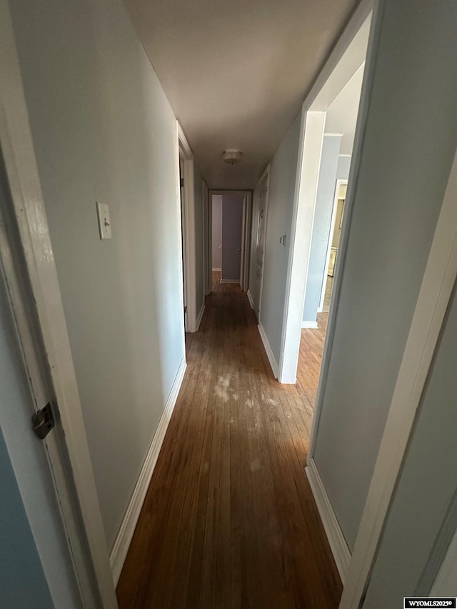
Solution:
[(210, 188), (255, 185), (356, 4), (126, 0)]

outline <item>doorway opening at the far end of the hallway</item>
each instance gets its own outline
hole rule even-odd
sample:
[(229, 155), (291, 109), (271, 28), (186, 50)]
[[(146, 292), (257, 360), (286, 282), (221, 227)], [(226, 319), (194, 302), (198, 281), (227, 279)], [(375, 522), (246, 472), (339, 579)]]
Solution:
[(236, 283), (247, 291), (251, 191), (209, 191), (211, 285)]

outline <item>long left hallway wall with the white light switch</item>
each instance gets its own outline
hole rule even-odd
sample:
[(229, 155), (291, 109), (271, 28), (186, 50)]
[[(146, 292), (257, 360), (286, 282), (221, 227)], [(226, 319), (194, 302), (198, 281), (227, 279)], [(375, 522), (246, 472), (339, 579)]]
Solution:
[(120, 0), (11, 13), (111, 548), (184, 358), (176, 121)]

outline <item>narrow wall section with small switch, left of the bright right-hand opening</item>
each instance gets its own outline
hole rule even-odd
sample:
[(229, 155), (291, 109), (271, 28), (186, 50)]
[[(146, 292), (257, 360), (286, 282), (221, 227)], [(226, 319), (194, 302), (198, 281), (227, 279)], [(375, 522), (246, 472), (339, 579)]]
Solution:
[[(298, 113), (281, 142), (270, 165), (268, 191), (268, 221), (266, 228), (263, 286), (261, 296), (261, 324), (270, 343), (276, 362), (281, 353), (283, 312), (286, 298), (288, 249), (291, 236), (293, 194), (296, 183), (298, 141), (301, 113)], [(255, 199), (256, 197), (254, 197)], [(256, 205), (254, 205), (254, 208)], [(258, 209), (258, 207), (257, 207)], [(254, 209), (255, 211), (255, 209)], [(253, 216), (254, 222), (256, 216)], [(286, 235), (286, 246), (279, 238)], [(251, 258), (255, 257), (255, 248)], [(255, 277), (252, 273), (251, 278)]]

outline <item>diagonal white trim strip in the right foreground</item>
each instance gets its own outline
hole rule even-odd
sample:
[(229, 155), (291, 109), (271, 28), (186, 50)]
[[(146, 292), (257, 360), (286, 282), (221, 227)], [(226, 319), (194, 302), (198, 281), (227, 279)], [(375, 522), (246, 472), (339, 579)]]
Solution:
[(358, 607), (457, 278), (457, 152), (398, 371), (340, 609)]

